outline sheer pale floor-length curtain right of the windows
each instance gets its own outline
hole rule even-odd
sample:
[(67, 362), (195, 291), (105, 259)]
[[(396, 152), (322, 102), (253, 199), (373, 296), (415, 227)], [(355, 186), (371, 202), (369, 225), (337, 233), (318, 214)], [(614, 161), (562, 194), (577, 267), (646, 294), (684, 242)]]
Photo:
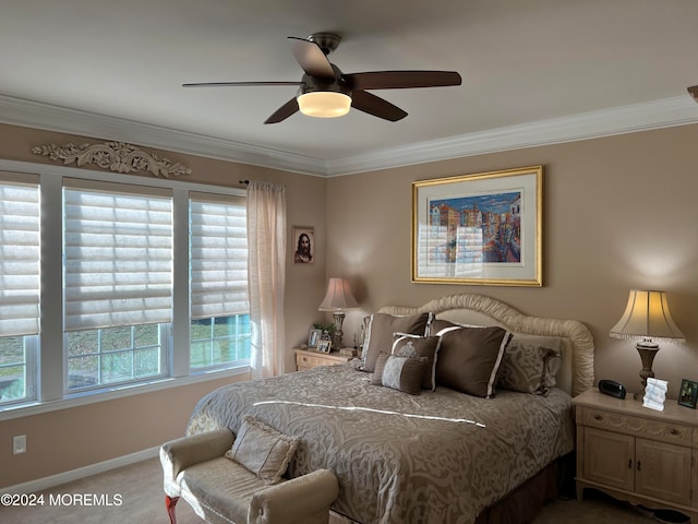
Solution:
[(248, 242), (252, 378), (281, 374), (285, 361), (286, 188), (251, 181)]

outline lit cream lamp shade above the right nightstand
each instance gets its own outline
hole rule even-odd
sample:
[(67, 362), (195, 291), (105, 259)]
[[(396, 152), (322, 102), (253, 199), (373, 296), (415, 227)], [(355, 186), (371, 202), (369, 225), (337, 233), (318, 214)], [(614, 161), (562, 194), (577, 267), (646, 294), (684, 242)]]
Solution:
[(653, 342), (685, 342), (669, 312), (665, 291), (633, 289), (621, 320), (611, 329), (614, 338), (650, 338)]

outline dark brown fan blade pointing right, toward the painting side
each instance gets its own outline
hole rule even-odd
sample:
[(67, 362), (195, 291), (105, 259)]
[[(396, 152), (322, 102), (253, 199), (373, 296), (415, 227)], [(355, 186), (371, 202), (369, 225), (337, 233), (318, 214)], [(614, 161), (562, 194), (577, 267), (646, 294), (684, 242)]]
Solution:
[(404, 90), (410, 87), (442, 87), (460, 85), (456, 71), (372, 71), (342, 74), (353, 90)]

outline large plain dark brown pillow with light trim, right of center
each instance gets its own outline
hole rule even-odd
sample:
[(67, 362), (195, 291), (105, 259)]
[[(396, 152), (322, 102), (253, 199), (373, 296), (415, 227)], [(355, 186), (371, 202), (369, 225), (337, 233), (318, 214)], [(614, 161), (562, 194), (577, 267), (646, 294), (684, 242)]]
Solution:
[(497, 326), (444, 331), (436, 384), (473, 396), (494, 396), (497, 371), (512, 334)]

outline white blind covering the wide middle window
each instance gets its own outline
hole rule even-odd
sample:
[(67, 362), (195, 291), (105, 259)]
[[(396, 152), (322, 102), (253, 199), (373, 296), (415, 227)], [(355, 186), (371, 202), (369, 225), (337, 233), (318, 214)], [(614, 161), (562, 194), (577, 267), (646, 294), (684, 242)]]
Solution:
[(64, 183), (65, 330), (170, 322), (171, 193)]

